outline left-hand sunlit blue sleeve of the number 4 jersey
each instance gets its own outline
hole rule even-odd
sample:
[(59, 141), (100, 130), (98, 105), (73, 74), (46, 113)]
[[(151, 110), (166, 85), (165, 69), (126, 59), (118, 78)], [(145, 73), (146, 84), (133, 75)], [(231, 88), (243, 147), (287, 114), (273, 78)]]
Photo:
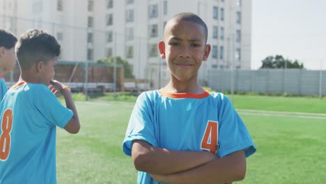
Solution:
[(123, 152), (131, 155), (132, 141), (147, 141), (152, 146), (157, 146), (154, 135), (153, 107), (146, 93), (141, 93), (134, 105), (130, 121), (123, 140)]

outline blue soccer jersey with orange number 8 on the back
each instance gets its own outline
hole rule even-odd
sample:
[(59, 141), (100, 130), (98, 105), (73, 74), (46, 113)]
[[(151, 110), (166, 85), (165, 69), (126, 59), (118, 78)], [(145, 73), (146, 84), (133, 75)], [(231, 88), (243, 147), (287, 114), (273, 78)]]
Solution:
[(56, 126), (72, 111), (44, 84), (21, 82), (1, 105), (0, 183), (56, 183)]

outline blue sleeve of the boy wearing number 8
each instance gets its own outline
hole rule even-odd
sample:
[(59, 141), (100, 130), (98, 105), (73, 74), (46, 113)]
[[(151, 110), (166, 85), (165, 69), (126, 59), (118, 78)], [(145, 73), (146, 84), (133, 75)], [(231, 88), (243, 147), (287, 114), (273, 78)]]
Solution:
[(47, 120), (45, 123), (64, 128), (73, 116), (72, 111), (64, 107), (47, 86), (39, 87), (35, 93), (34, 105)]

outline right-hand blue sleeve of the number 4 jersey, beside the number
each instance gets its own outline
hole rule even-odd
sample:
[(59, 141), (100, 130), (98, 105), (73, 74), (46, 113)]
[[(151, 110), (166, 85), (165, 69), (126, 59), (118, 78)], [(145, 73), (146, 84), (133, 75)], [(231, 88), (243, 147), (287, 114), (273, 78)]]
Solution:
[(219, 107), (219, 150), (223, 157), (235, 151), (244, 150), (246, 157), (256, 152), (256, 146), (242, 119), (235, 111), (230, 100), (222, 95)]

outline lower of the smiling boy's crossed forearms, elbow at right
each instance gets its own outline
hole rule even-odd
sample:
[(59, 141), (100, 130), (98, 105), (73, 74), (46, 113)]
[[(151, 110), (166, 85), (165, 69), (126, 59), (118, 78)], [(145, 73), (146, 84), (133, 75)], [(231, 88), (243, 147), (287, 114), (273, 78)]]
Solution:
[(163, 183), (226, 183), (226, 181), (241, 181), (246, 174), (246, 158), (244, 151), (235, 151), (222, 158), (199, 167), (175, 174), (150, 174), (156, 181)]

